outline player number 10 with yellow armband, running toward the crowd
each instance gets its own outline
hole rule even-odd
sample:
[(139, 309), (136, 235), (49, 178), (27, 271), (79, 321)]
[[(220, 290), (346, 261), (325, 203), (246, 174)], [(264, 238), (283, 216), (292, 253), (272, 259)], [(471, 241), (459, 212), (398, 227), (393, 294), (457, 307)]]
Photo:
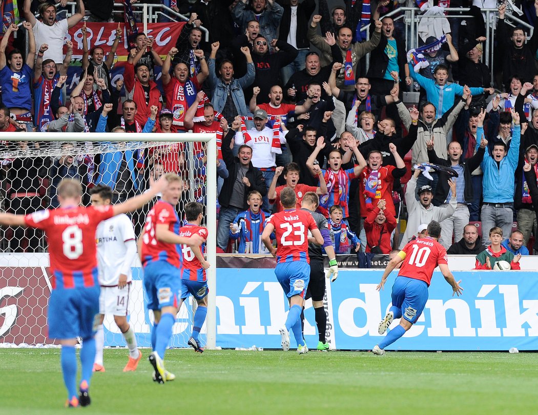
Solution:
[(385, 339), (372, 349), (374, 355), (384, 356), (385, 347), (403, 336), (420, 317), (428, 301), (428, 287), (436, 266), (439, 266), (444, 279), (452, 286), (452, 297), (454, 294), (458, 297), (462, 294), (463, 288), (459, 286), (462, 280), (456, 282), (448, 269), (447, 251), (437, 242), (440, 237), (441, 225), (431, 221), (425, 237), (409, 242), (387, 264), (381, 282), (377, 286), (378, 291), (385, 289), (387, 277), (400, 262), (404, 261), (392, 286), (392, 306), (379, 323), (379, 334), (387, 331), (393, 319), (401, 318), (401, 320), (400, 325), (390, 330)]

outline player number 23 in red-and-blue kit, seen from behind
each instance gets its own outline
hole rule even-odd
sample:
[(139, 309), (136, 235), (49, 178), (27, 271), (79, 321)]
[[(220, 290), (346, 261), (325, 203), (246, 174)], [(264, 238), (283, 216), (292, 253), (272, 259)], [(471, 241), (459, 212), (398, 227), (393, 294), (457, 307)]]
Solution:
[[(312, 215), (306, 210), (295, 208), (296, 196), (291, 187), (282, 189), (280, 203), (284, 210), (269, 218), (261, 234), (261, 240), (271, 255), (277, 257), (274, 273), (289, 301), (286, 323), (280, 329), (282, 349), (289, 350), (289, 330), (293, 330), (293, 336), (297, 342), (297, 353), (303, 354), (308, 353), (301, 328), (301, 312), (310, 281), (308, 231), (310, 230), (318, 245), (323, 245), (323, 236), (317, 229)], [(273, 231), (276, 235), (277, 249), (271, 243)]]

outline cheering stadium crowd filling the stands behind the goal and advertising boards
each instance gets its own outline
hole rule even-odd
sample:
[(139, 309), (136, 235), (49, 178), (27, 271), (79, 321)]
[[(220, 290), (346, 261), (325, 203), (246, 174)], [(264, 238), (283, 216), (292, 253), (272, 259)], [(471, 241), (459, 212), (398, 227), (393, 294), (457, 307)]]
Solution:
[[(526, 40), (505, 22), (505, 4), (496, 39), (484, 36), (480, 2), (458, 2), (471, 6), (471, 18), (449, 13), (419, 24), (420, 47), (409, 50), (397, 9), (443, 14), (437, 2), (347, 0), (332, 10), (327, 0), (178, 2), (189, 20), (164, 59), (139, 32), (123, 80), (112, 85), (118, 25), (108, 56), (83, 41), (83, 73), (67, 99), (67, 30), (87, 14), (107, 18), (87, 13), (81, 0), (61, 20), (53, 4), (19, 3), (25, 22), (4, 25), (0, 43), (0, 131), (216, 132), (223, 251), (237, 240), (237, 252), (266, 252), (260, 236), (285, 187), (298, 207), (306, 192), (319, 196), (337, 254), (390, 254), (430, 221), (441, 223), (449, 254), (489, 247), (477, 268), (538, 249), (538, 32)], [(522, 3), (533, 25), (538, 0)], [(27, 36), (27, 54), (13, 47), (15, 32)], [(486, 49), (495, 50), (494, 79)], [(417, 105), (403, 101), (412, 89), (420, 90)], [(3, 142), (2, 151), (48, 145)], [(85, 203), (98, 184), (112, 188), (113, 202), (125, 201), (166, 172), (187, 179), (188, 168), (205, 202), (201, 144), (194, 166), (184, 144), (85, 156), (69, 155), (70, 145), (60, 144), (60, 157), (4, 159), (2, 210), (58, 206), (56, 186), (66, 177), (80, 179)], [(36, 251), (39, 240), (38, 230), (15, 229), (10, 249)]]

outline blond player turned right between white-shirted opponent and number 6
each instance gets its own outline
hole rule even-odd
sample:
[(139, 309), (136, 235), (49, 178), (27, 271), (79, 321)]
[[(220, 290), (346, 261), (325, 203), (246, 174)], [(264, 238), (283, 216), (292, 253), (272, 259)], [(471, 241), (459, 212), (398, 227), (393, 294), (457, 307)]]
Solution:
[(183, 181), (174, 173), (167, 173), (161, 179), (163, 178), (168, 186), (147, 214), (144, 232), (138, 241), (144, 268), (147, 308), (153, 311), (155, 318), (151, 332), (153, 352), (149, 360), (155, 371), (153, 380), (158, 383), (175, 379), (174, 374), (166, 371), (164, 357), (182, 298), (179, 278), (182, 258), (177, 245), (187, 245), (204, 268), (209, 268), (200, 249), (203, 236), (197, 233), (188, 237), (178, 235), (180, 222), (174, 206), (179, 203)]

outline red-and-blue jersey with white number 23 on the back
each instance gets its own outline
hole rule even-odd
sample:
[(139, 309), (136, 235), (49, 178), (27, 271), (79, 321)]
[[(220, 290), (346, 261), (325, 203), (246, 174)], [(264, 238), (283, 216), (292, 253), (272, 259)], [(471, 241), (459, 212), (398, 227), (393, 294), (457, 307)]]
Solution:
[(277, 238), (277, 263), (303, 261), (308, 257), (308, 230), (317, 229), (316, 222), (306, 210), (288, 209), (275, 213), (272, 223)]

